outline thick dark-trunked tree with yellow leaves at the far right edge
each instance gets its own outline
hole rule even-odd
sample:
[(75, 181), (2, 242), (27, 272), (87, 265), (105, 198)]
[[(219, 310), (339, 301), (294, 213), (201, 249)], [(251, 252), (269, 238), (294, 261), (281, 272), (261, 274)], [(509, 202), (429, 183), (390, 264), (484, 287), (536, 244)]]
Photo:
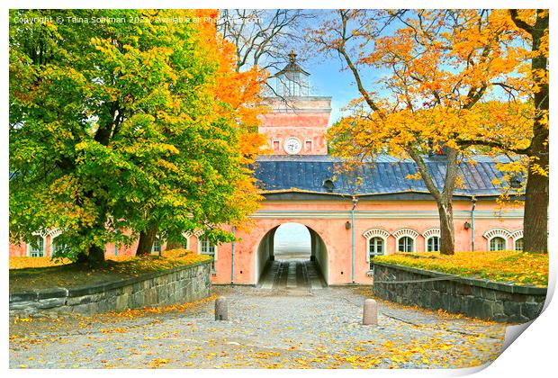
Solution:
[[(521, 122), (527, 129), (527, 139), (518, 139), (512, 132), (477, 130), (476, 135), (464, 135), (461, 146), (489, 147), (496, 153), (511, 153), (526, 157), (503, 165), (507, 175), (527, 175), (527, 183), (519, 188), (525, 192), (523, 221), (524, 249), (533, 253), (548, 252), (548, 10), (509, 10), (509, 32), (518, 32), (518, 59), (515, 76), (500, 85), (510, 100), (527, 99), (532, 109)], [(522, 43), (519, 44), (519, 41)], [(523, 47), (527, 45), (527, 47)], [(499, 112), (492, 112), (498, 117)], [(525, 122), (527, 121), (527, 125)], [(519, 124), (519, 122), (518, 122)], [(508, 129), (509, 130), (509, 129)]]

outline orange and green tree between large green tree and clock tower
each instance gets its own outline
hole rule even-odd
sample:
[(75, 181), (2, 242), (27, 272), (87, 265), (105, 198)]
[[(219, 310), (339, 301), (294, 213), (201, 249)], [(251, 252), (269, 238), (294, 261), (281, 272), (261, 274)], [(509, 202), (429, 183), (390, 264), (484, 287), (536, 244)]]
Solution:
[[(211, 20), (218, 16), (217, 12), (211, 10), (194, 10), (192, 14), (199, 19)], [(214, 120), (224, 123), (223, 127), (212, 125), (210, 129), (204, 129), (203, 139), (195, 151), (189, 139), (177, 135), (175, 143), (184, 146), (183, 150), (189, 153), (178, 154), (173, 160), (177, 159), (176, 166), (198, 165), (196, 172), (203, 176), (200, 178), (203, 184), (198, 184), (195, 190), (188, 190), (190, 193), (196, 192), (196, 196), (203, 198), (203, 201), (197, 202), (198, 208), (197, 211), (193, 211), (193, 219), (198, 220), (198, 225), (203, 225), (198, 229), (207, 230), (205, 237), (217, 236), (215, 240), (225, 241), (230, 240), (232, 235), (222, 232), (216, 225), (231, 223), (240, 226), (248, 213), (256, 211), (256, 203), (260, 199), (248, 166), (253, 163), (261, 146), (266, 142), (264, 137), (257, 133), (257, 116), (264, 110), (259, 93), (265, 83), (266, 73), (257, 67), (238, 71), (238, 57), (234, 45), (216, 32), (215, 23), (200, 23), (196, 25), (196, 29), (197, 50), (204, 59), (215, 65), (211, 76), (206, 78), (205, 89), (209, 100), (207, 103), (211, 104), (211, 111), (205, 116), (211, 116)], [(219, 131), (225, 130), (225, 125), (229, 127), (229, 135), (219, 135)], [(234, 161), (230, 160), (232, 157)], [(230, 170), (230, 164), (234, 164), (238, 170)], [(199, 166), (202, 166), (202, 169)], [(211, 188), (212, 192), (208, 188)], [(175, 201), (176, 196), (173, 195)], [(229, 203), (235, 205), (230, 206)], [(211, 207), (202, 208), (200, 211), (204, 205)], [(184, 232), (193, 229), (185, 228), (184, 225), (176, 228), (172, 226), (172, 222), (168, 224), (167, 216), (172, 218), (172, 213), (173, 211), (161, 216), (161, 211), (145, 211), (144, 218), (148, 221), (146, 228), (141, 229), (139, 233), (138, 255), (150, 253), (157, 233), (170, 242), (170, 247), (184, 244)], [(206, 214), (206, 218), (209, 214), (211, 216), (202, 219), (202, 214)]]

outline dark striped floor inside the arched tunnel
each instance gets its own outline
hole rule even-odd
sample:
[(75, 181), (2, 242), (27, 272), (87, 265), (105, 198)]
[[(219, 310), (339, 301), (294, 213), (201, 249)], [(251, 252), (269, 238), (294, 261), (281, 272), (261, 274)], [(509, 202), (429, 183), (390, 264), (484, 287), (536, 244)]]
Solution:
[(270, 261), (258, 287), (264, 290), (310, 291), (326, 287), (320, 267), (302, 259)]

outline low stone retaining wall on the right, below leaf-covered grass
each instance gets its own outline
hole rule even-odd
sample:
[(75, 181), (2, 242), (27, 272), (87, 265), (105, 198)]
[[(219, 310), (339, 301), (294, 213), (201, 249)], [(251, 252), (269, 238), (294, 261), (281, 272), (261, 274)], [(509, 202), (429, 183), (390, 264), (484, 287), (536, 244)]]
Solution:
[(377, 263), (374, 264), (374, 295), (392, 302), (462, 313), (482, 320), (524, 323), (535, 319), (543, 310), (546, 288)]

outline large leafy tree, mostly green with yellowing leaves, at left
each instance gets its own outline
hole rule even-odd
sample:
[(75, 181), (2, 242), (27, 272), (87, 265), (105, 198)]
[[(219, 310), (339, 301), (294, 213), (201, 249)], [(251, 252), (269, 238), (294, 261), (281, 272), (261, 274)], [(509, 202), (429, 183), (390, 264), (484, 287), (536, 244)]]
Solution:
[(164, 21), (195, 16), (182, 10), (11, 15), (126, 20), (11, 24), (12, 240), (63, 229), (65, 256), (94, 262), (106, 242), (129, 244), (153, 224), (230, 238), (220, 224), (243, 220), (258, 197), (238, 112), (216, 94), (215, 33)]

